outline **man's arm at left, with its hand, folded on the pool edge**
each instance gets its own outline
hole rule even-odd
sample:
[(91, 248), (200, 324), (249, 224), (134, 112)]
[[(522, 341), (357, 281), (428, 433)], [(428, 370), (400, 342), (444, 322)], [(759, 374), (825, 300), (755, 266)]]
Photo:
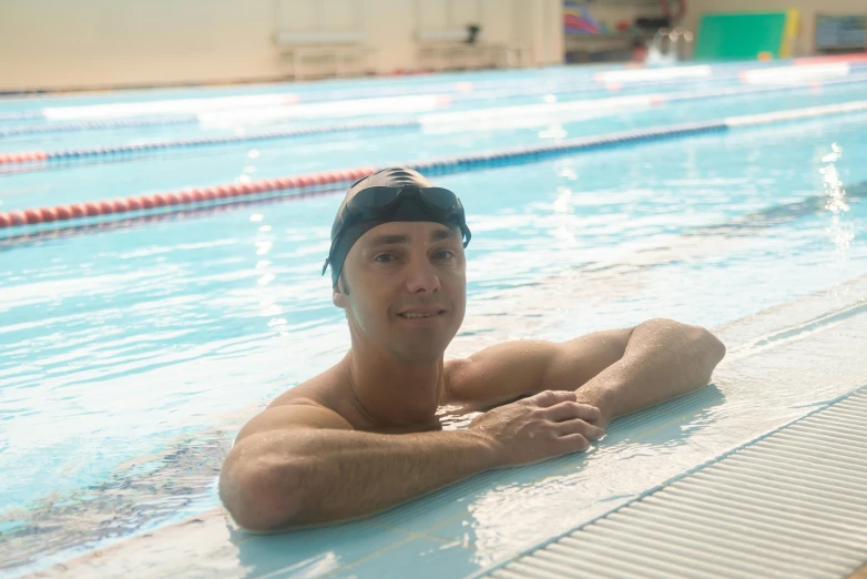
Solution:
[(262, 429), (242, 430), (221, 497), (239, 525), (259, 531), (368, 515), (482, 470), (585, 449), (602, 434), (586, 421), (599, 413), (574, 400), (572, 392), (541, 393), (466, 430), (405, 435), (341, 429), (343, 418), (322, 407), (277, 407), (279, 418), (269, 409), (255, 419)]

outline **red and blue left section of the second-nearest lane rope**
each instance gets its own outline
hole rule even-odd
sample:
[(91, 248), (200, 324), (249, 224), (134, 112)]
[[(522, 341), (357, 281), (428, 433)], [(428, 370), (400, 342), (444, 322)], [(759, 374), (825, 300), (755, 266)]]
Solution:
[(373, 123), (344, 123), (324, 126), (313, 126), (307, 129), (292, 129), (288, 131), (268, 131), (265, 133), (239, 134), (228, 136), (203, 136), (197, 139), (184, 139), (177, 141), (154, 141), (151, 143), (137, 143), (119, 146), (96, 146), (92, 149), (67, 149), (63, 151), (18, 151), (11, 153), (0, 153), (0, 165), (33, 163), (43, 161), (42, 165), (21, 167), (21, 170), (45, 169), (48, 162), (69, 162), (79, 160), (92, 160), (102, 158), (115, 158), (118, 155), (135, 155), (143, 153), (153, 153), (156, 151), (169, 151), (172, 149), (190, 149), (198, 146), (213, 146), (234, 143), (245, 143), (255, 141), (269, 141), (278, 139), (292, 139), (298, 136), (309, 136), (315, 134), (328, 134), (349, 131), (373, 131), (373, 130), (399, 130), (412, 129), (419, 126), (419, 122), (409, 121), (388, 121)]

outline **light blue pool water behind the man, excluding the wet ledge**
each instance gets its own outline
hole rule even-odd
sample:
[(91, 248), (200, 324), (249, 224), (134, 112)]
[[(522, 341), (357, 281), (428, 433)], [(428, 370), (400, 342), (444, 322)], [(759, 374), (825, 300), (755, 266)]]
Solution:
[[(478, 79), (508, 90), (569, 72)], [(400, 81), (435, 82), (442, 81)], [(347, 87), (365, 84), (304, 90)], [(532, 145), (863, 93), (863, 85), (826, 88), (553, 118), (531, 128), (167, 152), (0, 175), (0, 211)], [(0, 101), (0, 114), (22, 102), (32, 106)], [(39, 99), (43, 106), (64, 102)], [(867, 273), (866, 124), (865, 114), (827, 116), (441, 177), (465, 202), (473, 232), (459, 339), (561, 339), (659, 316), (715, 327)], [(192, 134), (195, 125), (61, 133), (0, 140), (0, 150)], [(833, 145), (839, 156), (829, 160)], [(819, 170), (829, 166), (848, 191), (837, 213), (824, 201)], [(238, 425), (348, 345), (328, 278), (319, 276), (338, 202), (264, 203), (0, 247), (0, 532), (11, 539), (0, 541), (10, 546), (0, 547), (0, 568), (39, 566), (217, 504), (213, 480)], [(524, 297), (502, 302), (503, 292)], [(534, 292), (544, 292), (544, 302)]]

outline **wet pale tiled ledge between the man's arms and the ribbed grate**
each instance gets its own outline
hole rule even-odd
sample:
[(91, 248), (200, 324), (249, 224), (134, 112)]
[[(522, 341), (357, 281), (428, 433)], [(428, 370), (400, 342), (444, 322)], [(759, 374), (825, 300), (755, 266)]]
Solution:
[[(34, 577), (477, 575), (867, 384), (867, 276), (716, 332), (728, 355), (712, 386), (615, 421), (584, 455), (489, 471), (368, 519), (320, 529), (254, 536), (216, 509)], [(714, 417), (725, 408), (735, 416)], [(660, 445), (665, 460), (642, 450)], [(620, 451), (611, 451), (615, 447)]]

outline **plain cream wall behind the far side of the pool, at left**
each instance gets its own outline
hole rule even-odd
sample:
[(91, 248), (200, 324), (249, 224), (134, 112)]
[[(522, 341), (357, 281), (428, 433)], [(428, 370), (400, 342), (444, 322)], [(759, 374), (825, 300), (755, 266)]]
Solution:
[(378, 72), (412, 70), (420, 28), (470, 21), (562, 61), (559, 0), (0, 0), (0, 91), (285, 78), (277, 30), (360, 31)]

